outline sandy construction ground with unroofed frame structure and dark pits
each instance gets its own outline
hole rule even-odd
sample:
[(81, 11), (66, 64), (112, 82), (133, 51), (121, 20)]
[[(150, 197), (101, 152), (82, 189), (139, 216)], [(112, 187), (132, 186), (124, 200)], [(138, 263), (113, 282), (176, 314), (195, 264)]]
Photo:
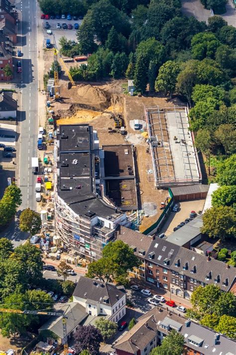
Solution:
[[(52, 49), (44, 52), (45, 72), (55, 54)], [(132, 145), (133, 166), (123, 158), (116, 160), (119, 164), (123, 160), (121, 170), (126, 170), (128, 179), (122, 174), (106, 173), (101, 179), (105, 178), (103, 192), (113, 205), (128, 213), (137, 211), (136, 228), (144, 232), (167, 204), (168, 186), (201, 182), (187, 108), (177, 99), (126, 95), (125, 80), (70, 82), (69, 68), (70, 63), (64, 62), (58, 80), (55, 76), (60, 99), (48, 96), (48, 122), (54, 122), (55, 128), (61, 124), (90, 124), (99, 136), (100, 147)], [(134, 128), (135, 120), (139, 122), (138, 130)], [(107, 162), (105, 170), (116, 170), (114, 164), (113, 159)], [(135, 179), (130, 178), (128, 165)]]

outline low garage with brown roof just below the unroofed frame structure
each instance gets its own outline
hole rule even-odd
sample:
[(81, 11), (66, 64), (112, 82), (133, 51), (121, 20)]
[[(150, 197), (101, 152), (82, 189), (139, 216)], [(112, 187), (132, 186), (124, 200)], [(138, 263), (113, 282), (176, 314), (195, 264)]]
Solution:
[(201, 184), (171, 187), (175, 202), (204, 199), (207, 197), (208, 190), (209, 185)]

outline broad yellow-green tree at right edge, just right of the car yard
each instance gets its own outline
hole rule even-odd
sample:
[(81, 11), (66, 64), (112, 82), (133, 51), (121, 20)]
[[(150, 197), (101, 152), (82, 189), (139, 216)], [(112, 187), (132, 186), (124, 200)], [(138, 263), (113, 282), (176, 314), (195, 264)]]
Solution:
[(236, 211), (233, 207), (212, 207), (203, 214), (202, 233), (222, 240), (236, 236)]

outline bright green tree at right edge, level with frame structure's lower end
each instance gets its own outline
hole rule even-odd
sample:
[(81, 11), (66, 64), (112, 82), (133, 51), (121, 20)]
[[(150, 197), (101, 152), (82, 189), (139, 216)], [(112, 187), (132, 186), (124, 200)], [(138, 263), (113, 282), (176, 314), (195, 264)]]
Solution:
[(236, 154), (217, 166), (217, 182), (222, 185), (236, 185)]

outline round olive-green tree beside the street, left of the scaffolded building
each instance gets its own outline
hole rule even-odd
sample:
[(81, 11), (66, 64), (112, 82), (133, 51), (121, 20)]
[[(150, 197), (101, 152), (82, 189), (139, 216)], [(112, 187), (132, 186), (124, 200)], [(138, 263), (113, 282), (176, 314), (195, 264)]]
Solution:
[(42, 227), (40, 214), (26, 208), (20, 214), (19, 228), (22, 232), (29, 232), (30, 236), (37, 233)]

